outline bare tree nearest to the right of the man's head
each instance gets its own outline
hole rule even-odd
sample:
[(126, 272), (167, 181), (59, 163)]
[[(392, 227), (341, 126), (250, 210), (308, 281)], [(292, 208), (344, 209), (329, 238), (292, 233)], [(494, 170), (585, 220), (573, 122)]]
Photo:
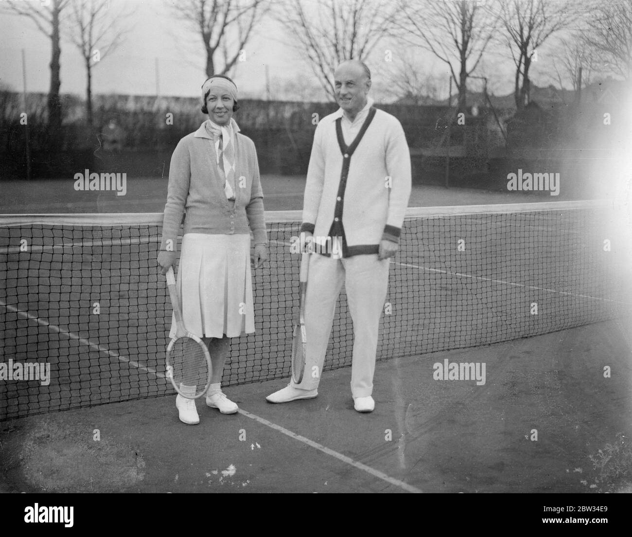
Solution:
[(470, 0), (401, 0), (399, 8), (398, 24), (405, 31), (402, 39), (446, 63), (459, 92), (458, 108), (465, 109), (468, 77), (494, 35), (498, 16), (489, 3)]

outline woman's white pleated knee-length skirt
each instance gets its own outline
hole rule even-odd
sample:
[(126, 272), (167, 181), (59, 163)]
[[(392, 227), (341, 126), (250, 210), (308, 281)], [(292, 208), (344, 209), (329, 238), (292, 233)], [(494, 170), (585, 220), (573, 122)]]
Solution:
[[(255, 331), (250, 235), (186, 233), (178, 293), (186, 330), (198, 337), (237, 337)], [(171, 333), (176, 333), (175, 316)]]

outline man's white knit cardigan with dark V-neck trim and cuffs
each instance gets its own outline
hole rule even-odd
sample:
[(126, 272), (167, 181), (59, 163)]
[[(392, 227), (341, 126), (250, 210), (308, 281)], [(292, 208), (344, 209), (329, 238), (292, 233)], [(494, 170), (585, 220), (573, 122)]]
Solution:
[(391, 114), (376, 109), (357, 145), (339, 139), (340, 117), (341, 111), (329, 114), (316, 127), (301, 230), (326, 238), (341, 223), (343, 257), (374, 254), (381, 240), (399, 242), (411, 192), (410, 152)]

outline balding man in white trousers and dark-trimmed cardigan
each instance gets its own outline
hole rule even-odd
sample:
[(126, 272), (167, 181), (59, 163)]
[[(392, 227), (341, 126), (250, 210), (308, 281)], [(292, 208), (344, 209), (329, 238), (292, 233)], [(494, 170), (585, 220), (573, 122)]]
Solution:
[(389, 258), (398, 251), (410, 197), (410, 153), (399, 121), (375, 109), (368, 98), (371, 73), (364, 63), (341, 63), (334, 83), (340, 109), (322, 118), (314, 133), (301, 232), (311, 237), (308, 240), (339, 245), (339, 249), (322, 252), (317, 248), (320, 253), (310, 256), (303, 380), (300, 384), (290, 381), (267, 400), (284, 403), (318, 395), (336, 301), (344, 283), (355, 333), (351, 394), (358, 412), (372, 412)]

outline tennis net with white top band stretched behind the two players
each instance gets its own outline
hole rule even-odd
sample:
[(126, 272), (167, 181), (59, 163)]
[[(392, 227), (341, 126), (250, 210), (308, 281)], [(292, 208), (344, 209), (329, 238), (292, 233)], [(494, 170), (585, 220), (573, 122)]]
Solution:
[[(608, 202), (409, 209), (378, 359), (629, 314), (616, 215)], [(289, 378), (300, 264), (289, 244), (300, 216), (266, 213), (270, 260), (253, 271), (256, 333), (231, 341), (225, 386)], [(173, 393), (161, 225), (162, 214), (0, 216), (0, 420)], [(348, 366), (352, 346), (343, 292), (325, 369)]]

